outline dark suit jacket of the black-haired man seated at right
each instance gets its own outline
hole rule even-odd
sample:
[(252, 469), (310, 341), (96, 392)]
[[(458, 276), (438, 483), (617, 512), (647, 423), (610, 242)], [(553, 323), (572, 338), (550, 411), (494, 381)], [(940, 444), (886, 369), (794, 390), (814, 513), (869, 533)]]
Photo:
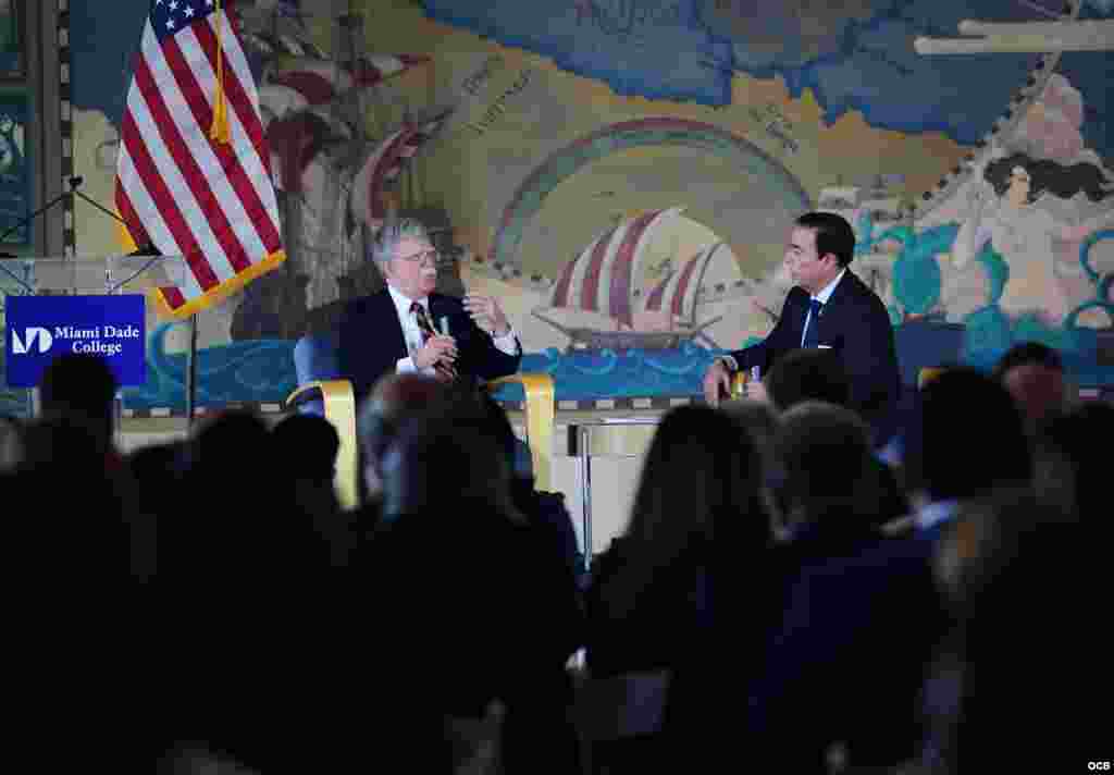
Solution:
[[(765, 375), (783, 355), (800, 349), (808, 310), (809, 293), (802, 288), (791, 290), (765, 340), (731, 353), (739, 367), (759, 366)], [(851, 408), (877, 429), (892, 416), (901, 388), (886, 307), (849, 269), (824, 304), (819, 326), (819, 343), (831, 346), (843, 360), (851, 382)]]

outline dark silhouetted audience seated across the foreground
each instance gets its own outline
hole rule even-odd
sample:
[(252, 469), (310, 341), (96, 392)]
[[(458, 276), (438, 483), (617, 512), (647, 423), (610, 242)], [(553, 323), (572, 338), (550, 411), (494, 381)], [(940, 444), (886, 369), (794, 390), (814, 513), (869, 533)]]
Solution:
[(377, 385), (345, 511), (326, 420), (228, 410), (121, 453), (106, 362), (59, 358), (40, 416), (0, 423), (25, 744), (157, 773), (1103, 761), (1114, 407), (1044, 389), (1044, 347), (949, 367), (895, 476), (831, 366), (666, 411), (586, 573), (485, 394)]

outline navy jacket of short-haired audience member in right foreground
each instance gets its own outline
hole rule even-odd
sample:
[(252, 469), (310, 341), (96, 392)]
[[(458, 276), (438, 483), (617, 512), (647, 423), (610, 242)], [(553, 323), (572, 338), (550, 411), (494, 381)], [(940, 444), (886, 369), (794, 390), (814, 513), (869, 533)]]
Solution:
[(762, 748), (784, 772), (827, 773), (834, 742), (879, 771), (915, 754), (925, 666), (947, 628), (934, 545), (882, 540), (799, 571), (747, 704), (758, 761)]

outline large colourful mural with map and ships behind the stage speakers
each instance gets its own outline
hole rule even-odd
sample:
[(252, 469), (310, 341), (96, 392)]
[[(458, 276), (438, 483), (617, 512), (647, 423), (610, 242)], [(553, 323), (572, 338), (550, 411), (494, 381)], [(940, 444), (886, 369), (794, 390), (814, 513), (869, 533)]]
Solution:
[[(118, 4), (70, 1), (77, 174), (102, 202), (146, 11)], [(281, 401), (297, 337), (381, 283), (365, 245), (391, 210), (436, 230), (442, 290), (505, 301), (558, 399), (698, 395), (775, 321), (812, 207), (856, 226), (896, 327), (961, 323), (976, 364), (1040, 339), (1114, 385), (1114, 2), (836, 6), (240, 2), (291, 258), (203, 316), (198, 403)], [(925, 52), (971, 17), (1106, 43)], [(77, 222), (79, 253), (119, 250), (109, 219)], [(182, 407), (182, 327), (150, 323), (127, 405)]]

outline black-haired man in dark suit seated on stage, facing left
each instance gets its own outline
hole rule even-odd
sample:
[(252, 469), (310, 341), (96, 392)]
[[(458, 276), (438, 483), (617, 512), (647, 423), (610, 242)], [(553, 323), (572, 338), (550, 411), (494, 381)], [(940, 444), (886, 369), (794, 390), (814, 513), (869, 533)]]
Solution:
[(789, 292), (778, 324), (764, 341), (716, 359), (704, 375), (704, 396), (717, 404), (730, 391), (733, 374), (759, 367), (764, 376), (779, 358), (799, 348), (831, 348), (850, 380), (850, 407), (885, 440), (901, 386), (889, 314), (848, 268), (854, 232), (834, 213), (797, 219), (785, 263), (797, 285)]

